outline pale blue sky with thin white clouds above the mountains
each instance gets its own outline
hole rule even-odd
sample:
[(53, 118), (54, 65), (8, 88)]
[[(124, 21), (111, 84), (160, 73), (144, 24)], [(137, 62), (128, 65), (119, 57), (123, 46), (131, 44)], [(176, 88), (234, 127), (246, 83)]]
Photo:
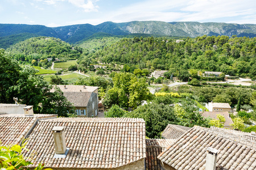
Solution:
[(256, 24), (255, 0), (1, 0), (0, 23), (59, 27), (156, 20)]

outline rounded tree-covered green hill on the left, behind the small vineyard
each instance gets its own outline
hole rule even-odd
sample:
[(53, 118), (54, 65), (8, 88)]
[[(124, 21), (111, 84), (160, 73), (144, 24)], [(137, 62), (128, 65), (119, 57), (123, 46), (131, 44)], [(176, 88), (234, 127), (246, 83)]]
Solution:
[[(18, 61), (31, 63), (32, 60), (46, 58), (76, 59), (80, 57), (82, 49), (53, 37), (32, 37), (11, 45), (6, 52)], [(32, 63), (37, 63), (35, 61)]]

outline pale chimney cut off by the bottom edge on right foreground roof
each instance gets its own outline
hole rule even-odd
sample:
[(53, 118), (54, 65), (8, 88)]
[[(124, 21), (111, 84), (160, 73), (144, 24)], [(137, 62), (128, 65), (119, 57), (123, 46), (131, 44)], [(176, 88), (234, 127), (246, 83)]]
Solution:
[(205, 170), (215, 170), (216, 169), (216, 160), (217, 160), (218, 150), (208, 147), (207, 148), (207, 158), (205, 163)]

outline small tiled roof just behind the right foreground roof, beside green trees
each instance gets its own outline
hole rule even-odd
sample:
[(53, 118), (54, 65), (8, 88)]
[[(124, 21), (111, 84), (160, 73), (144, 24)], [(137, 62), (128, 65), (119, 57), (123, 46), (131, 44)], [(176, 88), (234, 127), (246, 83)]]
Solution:
[(184, 133), (187, 133), (189, 129), (191, 128), (180, 126), (180, 125), (168, 124), (166, 126), (166, 129), (164, 129), (162, 133), (162, 137), (166, 139), (176, 139), (176, 138), (179, 138)]

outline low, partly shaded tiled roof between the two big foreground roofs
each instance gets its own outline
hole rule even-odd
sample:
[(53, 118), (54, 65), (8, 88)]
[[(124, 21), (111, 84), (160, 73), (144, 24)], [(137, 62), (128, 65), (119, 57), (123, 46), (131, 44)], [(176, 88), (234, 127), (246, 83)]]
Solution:
[(146, 170), (160, 170), (158, 155), (168, 146), (173, 145), (175, 139), (146, 139)]

